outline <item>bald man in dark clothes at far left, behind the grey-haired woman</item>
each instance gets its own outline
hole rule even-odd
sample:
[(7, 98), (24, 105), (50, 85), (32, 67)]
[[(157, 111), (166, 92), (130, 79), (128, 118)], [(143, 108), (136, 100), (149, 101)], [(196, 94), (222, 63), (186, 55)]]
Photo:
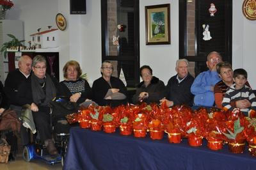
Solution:
[[(17, 92), (20, 84), (28, 79), (31, 72), (32, 59), (29, 56), (21, 56), (19, 59), (19, 68), (9, 72), (4, 82), (4, 92), (10, 103), (10, 108), (13, 109), (18, 116), (21, 113), (21, 107), (19, 106), (19, 98), (17, 98)], [(25, 127), (20, 128), (21, 143), (26, 145), (29, 143), (29, 137)]]

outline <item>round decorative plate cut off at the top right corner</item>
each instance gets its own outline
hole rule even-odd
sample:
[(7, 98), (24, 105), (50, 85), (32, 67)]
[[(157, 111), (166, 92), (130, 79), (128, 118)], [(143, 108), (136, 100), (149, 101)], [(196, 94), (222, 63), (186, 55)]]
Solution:
[(249, 20), (256, 20), (256, 0), (244, 0), (244, 16)]

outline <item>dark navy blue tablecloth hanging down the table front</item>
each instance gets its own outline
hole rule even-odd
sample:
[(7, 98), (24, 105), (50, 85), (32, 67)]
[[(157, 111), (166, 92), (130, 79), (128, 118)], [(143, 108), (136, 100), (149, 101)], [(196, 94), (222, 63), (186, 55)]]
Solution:
[[(117, 129), (118, 131), (118, 129)], [(212, 151), (203, 146), (191, 147), (187, 139), (180, 144), (164, 139), (152, 140), (119, 132), (106, 134), (79, 127), (71, 128), (63, 169), (256, 169), (256, 158), (248, 153), (234, 154), (227, 144)]]

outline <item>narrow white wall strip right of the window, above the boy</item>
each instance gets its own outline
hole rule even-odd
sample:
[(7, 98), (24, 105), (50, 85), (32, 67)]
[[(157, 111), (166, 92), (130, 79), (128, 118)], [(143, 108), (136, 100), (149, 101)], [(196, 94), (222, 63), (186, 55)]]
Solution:
[(232, 66), (244, 68), (250, 85), (256, 89), (256, 20), (246, 19), (242, 6), (242, 0), (233, 0)]

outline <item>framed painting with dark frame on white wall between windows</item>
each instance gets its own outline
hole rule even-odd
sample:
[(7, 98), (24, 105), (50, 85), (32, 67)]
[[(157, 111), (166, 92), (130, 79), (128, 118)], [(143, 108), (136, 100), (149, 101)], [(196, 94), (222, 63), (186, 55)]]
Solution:
[(146, 45), (170, 44), (170, 4), (145, 6)]

